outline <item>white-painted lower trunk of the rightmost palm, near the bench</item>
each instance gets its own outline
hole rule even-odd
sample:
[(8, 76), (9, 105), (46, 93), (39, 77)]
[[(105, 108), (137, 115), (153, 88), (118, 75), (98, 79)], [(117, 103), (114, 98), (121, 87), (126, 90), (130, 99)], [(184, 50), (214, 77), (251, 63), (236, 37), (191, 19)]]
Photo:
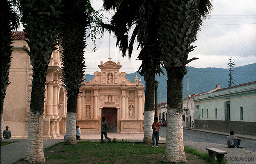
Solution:
[(163, 162), (187, 162), (183, 144), (182, 114), (177, 111), (178, 109), (167, 107), (166, 148)]

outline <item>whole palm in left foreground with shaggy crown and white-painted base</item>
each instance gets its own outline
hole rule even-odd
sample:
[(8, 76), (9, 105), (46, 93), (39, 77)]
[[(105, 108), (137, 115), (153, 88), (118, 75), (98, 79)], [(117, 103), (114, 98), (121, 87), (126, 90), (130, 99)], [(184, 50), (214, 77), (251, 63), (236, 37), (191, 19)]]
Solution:
[(30, 50), (24, 49), (30, 56), (33, 67), (30, 117), (27, 132), (28, 162), (44, 162), (43, 155), (43, 107), (46, 84), (46, 71), (51, 54), (57, 49), (59, 39), (59, 0), (22, 0), (22, 22), (25, 28), (25, 40)]

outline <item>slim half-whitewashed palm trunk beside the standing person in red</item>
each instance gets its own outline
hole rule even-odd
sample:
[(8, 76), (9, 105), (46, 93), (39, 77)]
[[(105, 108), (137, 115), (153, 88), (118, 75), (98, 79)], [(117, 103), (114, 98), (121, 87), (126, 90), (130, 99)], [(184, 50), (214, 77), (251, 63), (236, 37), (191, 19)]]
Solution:
[(144, 137), (143, 143), (152, 143), (152, 123), (154, 122), (155, 115), (155, 75), (152, 78), (146, 80), (146, 91), (145, 91), (145, 109), (144, 109)]

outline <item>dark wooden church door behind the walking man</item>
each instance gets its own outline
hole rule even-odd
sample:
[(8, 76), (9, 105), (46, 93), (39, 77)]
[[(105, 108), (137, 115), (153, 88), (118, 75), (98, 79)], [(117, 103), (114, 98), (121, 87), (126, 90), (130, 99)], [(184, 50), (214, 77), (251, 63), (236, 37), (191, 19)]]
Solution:
[(101, 117), (105, 117), (107, 131), (117, 133), (117, 108), (102, 108)]

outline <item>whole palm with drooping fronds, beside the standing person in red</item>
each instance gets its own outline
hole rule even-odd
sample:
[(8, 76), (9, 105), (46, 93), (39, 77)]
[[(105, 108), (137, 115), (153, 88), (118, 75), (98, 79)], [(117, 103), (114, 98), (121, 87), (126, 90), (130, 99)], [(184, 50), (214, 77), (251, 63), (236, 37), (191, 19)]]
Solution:
[[(139, 67), (138, 72), (144, 76), (146, 83), (143, 142), (147, 144), (152, 142), (153, 130), (151, 127), (155, 109), (155, 74), (163, 73), (160, 68), (160, 47), (157, 43), (157, 21), (155, 21), (155, 18), (158, 16), (158, 12), (155, 12), (157, 7), (158, 5), (155, 1), (147, 3), (146, 0), (104, 0), (103, 4), (105, 10), (114, 9), (116, 11), (112, 17), (111, 24), (104, 24), (104, 27), (114, 31), (117, 45), (120, 43), (119, 48), (122, 51), (123, 57), (126, 57), (127, 51), (128, 57), (131, 57), (136, 36), (139, 44), (142, 46), (142, 50), (138, 55), (138, 59), (142, 60), (142, 65)], [(128, 32), (133, 25), (135, 28), (128, 44)]]

